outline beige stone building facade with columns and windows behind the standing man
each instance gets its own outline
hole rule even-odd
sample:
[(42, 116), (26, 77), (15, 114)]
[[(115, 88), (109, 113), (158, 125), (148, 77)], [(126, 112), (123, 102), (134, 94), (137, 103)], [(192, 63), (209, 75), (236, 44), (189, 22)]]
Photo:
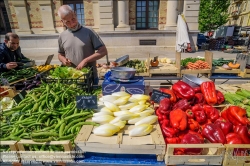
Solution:
[(109, 54), (174, 50), (178, 14), (185, 16), (195, 49), (199, 0), (0, 0), (1, 33), (17, 33), (23, 50), (55, 52), (65, 30), (57, 15), (63, 4), (98, 32)]

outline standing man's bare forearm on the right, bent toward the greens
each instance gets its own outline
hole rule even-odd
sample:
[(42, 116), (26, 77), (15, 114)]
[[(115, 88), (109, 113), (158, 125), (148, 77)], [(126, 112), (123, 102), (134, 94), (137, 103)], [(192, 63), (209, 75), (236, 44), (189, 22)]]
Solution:
[(107, 54), (108, 54), (108, 51), (107, 51), (106, 46), (101, 46), (100, 48), (98, 48), (98, 51), (96, 51), (94, 54), (83, 59), (82, 62), (76, 68), (81, 70), (84, 66), (87, 65), (87, 63), (101, 59), (102, 57), (104, 57)]

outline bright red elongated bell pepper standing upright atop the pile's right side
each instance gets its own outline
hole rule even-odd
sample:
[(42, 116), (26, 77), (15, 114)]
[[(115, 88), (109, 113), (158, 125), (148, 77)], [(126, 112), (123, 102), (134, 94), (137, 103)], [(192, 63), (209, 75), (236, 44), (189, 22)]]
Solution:
[(207, 104), (214, 105), (217, 103), (217, 96), (214, 82), (207, 81), (201, 84), (201, 92), (205, 97)]

